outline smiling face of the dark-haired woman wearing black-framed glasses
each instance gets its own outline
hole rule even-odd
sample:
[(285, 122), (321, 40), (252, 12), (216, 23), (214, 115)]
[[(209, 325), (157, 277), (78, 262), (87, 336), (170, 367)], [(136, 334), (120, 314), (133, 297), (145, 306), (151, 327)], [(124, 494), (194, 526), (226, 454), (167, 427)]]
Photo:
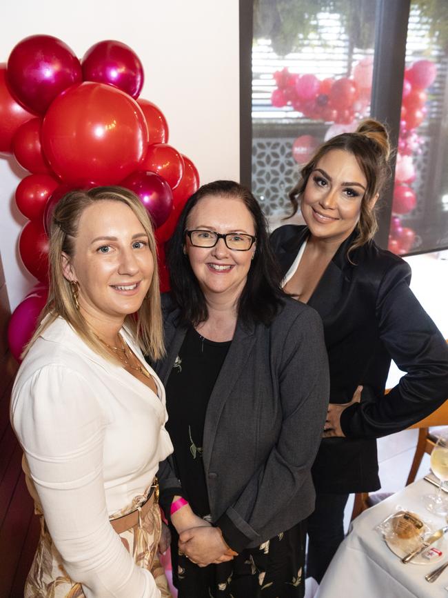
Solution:
[[(211, 195), (192, 208), (187, 229), (256, 235), (252, 215), (241, 199)], [(185, 252), (206, 300), (219, 297), (232, 303), (238, 301), (255, 249), (254, 244), (248, 251), (230, 250), (224, 239), (218, 239), (214, 247), (194, 247), (185, 236)]]

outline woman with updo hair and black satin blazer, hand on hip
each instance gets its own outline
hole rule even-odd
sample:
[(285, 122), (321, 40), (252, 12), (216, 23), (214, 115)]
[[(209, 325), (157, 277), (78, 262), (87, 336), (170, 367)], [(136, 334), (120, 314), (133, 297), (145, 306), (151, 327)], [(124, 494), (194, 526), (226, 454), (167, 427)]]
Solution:
[[(271, 237), (283, 288), (323, 319), (329, 410), (312, 474), (307, 575), (323, 577), (344, 537), (349, 492), (380, 487), (376, 438), (422, 419), (447, 398), (448, 350), (409, 289), (411, 269), (373, 241), (389, 178), (389, 139), (373, 119), (329, 139), (289, 194), (306, 226)], [(385, 395), (391, 359), (407, 374)]]

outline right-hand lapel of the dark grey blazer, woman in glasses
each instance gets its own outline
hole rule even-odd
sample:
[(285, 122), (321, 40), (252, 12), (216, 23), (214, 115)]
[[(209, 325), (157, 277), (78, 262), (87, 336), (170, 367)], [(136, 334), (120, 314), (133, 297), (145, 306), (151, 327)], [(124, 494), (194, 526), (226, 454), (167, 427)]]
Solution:
[(247, 359), (249, 358), (252, 347), (256, 339), (255, 326), (244, 326), (240, 321), (236, 325), (236, 330), (229, 352), (218, 374), (216, 383), (210, 395), (205, 415), (204, 435), (203, 435), (203, 463), (205, 471), (210, 467), (210, 459), (216, 430), (218, 428), (221, 412), (232, 392), (240, 373), (244, 370)]

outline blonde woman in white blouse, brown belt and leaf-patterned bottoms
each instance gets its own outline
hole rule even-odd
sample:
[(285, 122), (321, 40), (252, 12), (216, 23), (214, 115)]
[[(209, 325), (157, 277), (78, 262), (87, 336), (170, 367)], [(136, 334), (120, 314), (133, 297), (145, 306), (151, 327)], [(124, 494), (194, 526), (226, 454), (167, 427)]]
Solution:
[(72, 191), (50, 233), (50, 293), (12, 390), (41, 517), (26, 597), (170, 596), (156, 471), (172, 452), (156, 246), (139, 199)]

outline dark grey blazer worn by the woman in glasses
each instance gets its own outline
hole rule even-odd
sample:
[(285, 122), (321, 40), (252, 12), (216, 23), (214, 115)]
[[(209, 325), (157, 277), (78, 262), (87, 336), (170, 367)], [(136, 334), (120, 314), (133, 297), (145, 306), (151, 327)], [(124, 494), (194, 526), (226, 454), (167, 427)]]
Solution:
[[(153, 366), (166, 383), (186, 328), (169, 296), (163, 303), (167, 357)], [(202, 445), (212, 521), (237, 552), (314, 510), (311, 467), (328, 397), (323, 326), (312, 308), (285, 297), (270, 326), (238, 321), (207, 406)], [(162, 492), (182, 493), (170, 457), (159, 482)]]

